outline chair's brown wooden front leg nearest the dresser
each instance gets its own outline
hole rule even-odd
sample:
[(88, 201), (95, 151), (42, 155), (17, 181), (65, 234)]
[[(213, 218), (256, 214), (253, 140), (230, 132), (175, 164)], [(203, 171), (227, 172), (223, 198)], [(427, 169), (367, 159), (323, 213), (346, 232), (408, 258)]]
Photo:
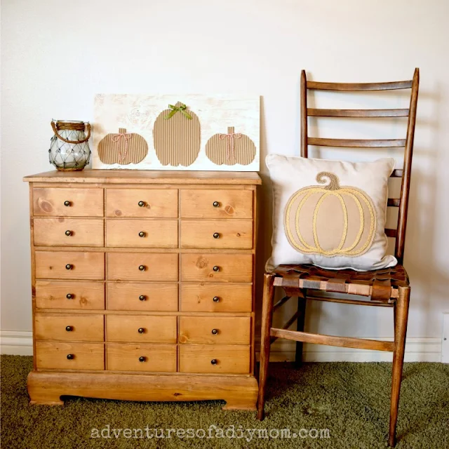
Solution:
[(264, 274), (262, 298), (262, 334), (260, 338), (259, 397), (257, 398), (257, 419), (264, 419), (265, 388), (267, 387), (270, 330), (273, 322), (274, 274)]

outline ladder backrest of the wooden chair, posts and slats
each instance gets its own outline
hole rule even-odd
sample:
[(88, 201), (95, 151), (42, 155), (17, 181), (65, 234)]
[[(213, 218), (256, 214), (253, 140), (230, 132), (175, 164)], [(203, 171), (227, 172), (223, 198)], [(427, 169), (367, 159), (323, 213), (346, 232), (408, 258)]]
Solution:
[[(391, 177), (401, 177), (401, 197), (388, 200), (387, 206), (397, 207), (398, 225), (396, 229), (385, 229), (388, 237), (396, 238), (394, 253), (399, 263), (403, 263), (404, 243), (410, 194), (410, 171), (413, 156), (413, 140), (415, 136), (416, 107), (420, 71), (415, 69), (410, 81), (394, 81), (391, 83), (321, 83), (307, 81), (304, 70), (301, 72), (300, 109), (301, 109), (301, 156), (307, 157), (308, 146), (349, 147), (349, 148), (390, 148), (404, 147), (403, 170), (394, 170)], [(316, 109), (307, 108), (307, 90), (318, 91), (391, 91), (411, 88), (410, 107), (408, 109)], [(408, 117), (406, 139), (330, 139), (311, 138), (308, 135), (307, 117)]]

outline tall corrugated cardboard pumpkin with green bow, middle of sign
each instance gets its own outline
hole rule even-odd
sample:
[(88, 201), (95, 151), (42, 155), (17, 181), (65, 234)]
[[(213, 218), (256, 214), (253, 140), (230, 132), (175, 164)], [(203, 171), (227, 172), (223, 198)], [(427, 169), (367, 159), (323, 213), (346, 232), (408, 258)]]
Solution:
[(181, 102), (169, 105), (154, 122), (156, 156), (163, 166), (189, 166), (198, 157), (201, 130), (198, 117)]

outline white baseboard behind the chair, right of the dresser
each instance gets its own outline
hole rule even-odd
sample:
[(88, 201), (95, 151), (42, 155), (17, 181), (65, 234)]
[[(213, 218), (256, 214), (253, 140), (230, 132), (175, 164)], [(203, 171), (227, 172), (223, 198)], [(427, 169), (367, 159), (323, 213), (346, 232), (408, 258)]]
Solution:
[[(392, 341), (391, 338), (371, 337), (373, 340)], [(256, 348), (259, 345), (256, 344)], [(272, 362), (294, 361), (296, 343), (278, 340), (272, 344), (269, 360)], [(304, 344), (303, 360), (306, 362), (391, 362), (393, 353), (369, 351), (366, 349), (349, 349)], [(259, 354), (257, 351), (257, 360)], [(441, 338), (410, 337), (406, 342), (406, 362), (441, 362)]]

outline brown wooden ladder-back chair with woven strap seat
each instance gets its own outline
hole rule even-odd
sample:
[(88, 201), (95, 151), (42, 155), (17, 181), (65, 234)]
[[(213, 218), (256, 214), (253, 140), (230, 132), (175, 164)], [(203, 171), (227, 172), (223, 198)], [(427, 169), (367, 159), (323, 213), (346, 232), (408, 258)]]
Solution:
[[(296, 343), (296, 362), (302, 361), (303, 342), (328, 344), (337, 347), (374, 349), (392, 351), (392, 382), (389, 445), (396, 444), (396, 421), (398, 415), (399, 391), (403, 368), (404, 349), (408, 320), (408, 303), (410, 285), (406, 270), (403, 268), (404, 243), (406, 239), (406, 222), (408, 196), (410, 192), (410, 170), (412, 166), (413, 138), (415, 134), (416, 107), (419, 86), (419, 69), (415, 69), (413, 79), (390, 83), (321, 83), (307, 81), (304, 70), (301, 73), (300, 106), (301, 106), (301, 156), (308, 156), (308, 145), (324, 147), (356, 147), (382, 148), (404, 147), (402, 170), (394, 170), (391, 177), (401, 177), (401, 195), (397, 199), (389, 199), (388, 206), (398, 207), (398, 223), (396, 229), (385, 229), (389, 237), (396, 238), (396, 267), (371, 272), (356, 272), (351, 269), (328, 270), (312, 265), (281, 265), (273, 272), (264, 274), (264, 290), (262, 304), (262, 338), (260, 348), (260, 380), (257, 417), (264, 418), (264, 396), (267, 384), (267, 370), (270, 344), (278, 338), (294, 340)], [(411, 89), (409, 109), (314, 109), (307, 107), (307, 91), (389, 91), (395, 89)], [(311, 138), (307, 133), (307, 117), (408, 117), (407, 135), (405, 139), (389, 140), (353, 140)], [(274, 304), (276, 286), (285, 290), (286, 296)], [(314, 295), (314, 290), (331, 293), (344, 293), (369, 297), (368, 300), (347, 299), (347, 297), (326, 297)], [(290, 297), (297, 297), (297, 312), (283, 328), (272, 328), (273, 313), (285, 304)], [(363, 306), (391, 307), (394, 311), (394, 342), (366, 340), (353, 337), (337, 337), (304, 332), (304, 314), (306, 300), (339, 302)], [(288, 330), (297, 321), (297, 330)]]

